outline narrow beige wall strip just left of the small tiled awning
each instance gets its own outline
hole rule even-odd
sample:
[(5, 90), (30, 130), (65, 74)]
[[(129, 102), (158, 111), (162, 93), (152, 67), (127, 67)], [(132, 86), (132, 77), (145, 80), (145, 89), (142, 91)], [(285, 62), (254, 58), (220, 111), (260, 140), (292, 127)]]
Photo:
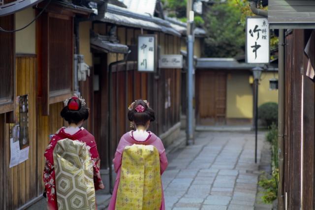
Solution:
[(92, 66), (93, 60), (90, 50), (90, 29), (92, 29), (92, 22), (86, 21), (80, 23), (80, 54), (84, 55), (84, 61), (86, 62), (86, 64)]

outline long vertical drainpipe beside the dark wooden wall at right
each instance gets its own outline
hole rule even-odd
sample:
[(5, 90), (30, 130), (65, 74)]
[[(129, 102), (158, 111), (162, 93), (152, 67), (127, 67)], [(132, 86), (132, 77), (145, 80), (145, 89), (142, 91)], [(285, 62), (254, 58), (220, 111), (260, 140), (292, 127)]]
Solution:
[(284, 210), (284, 29), (279, 29), (278, 58), (278, 210)]

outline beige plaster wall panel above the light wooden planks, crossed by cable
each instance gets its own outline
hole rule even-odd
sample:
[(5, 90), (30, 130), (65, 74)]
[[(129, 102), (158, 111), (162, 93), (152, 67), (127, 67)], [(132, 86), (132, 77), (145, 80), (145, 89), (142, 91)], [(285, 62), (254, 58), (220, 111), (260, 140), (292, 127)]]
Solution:
[[(15, 14), (15, 29), (20, 29), (29, 24), (35, 18), (35, 10), (32, 7), (24, 9)], [(35, 22), (24, 30), (15, 33), (16, 54), (35, 54)]]

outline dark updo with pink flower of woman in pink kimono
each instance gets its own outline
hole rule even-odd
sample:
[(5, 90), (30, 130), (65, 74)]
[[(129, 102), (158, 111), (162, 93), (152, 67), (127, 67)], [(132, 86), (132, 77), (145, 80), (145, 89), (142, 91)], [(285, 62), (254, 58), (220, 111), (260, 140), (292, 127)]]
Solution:
[[(144, 112), (137, 112), (136, 107), (142, 105), (144, 107)], [(128, 111), (128, 120), (133, 121), (135, 126), (143, 125), (146, 126), (147, 122), (156, 120), (154, 111), (151, 109), (146, 102), (139, 99), (136, 100), (133, 106)]]

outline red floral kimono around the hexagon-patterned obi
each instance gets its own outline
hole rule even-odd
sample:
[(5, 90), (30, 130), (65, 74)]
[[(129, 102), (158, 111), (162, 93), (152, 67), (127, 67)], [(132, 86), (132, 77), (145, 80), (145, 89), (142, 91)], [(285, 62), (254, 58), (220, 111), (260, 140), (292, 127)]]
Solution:
[(94, 187), (95, 190), (99, 189), (99, 185), (102, 184), (102, 180), (99, 173), (99, 155), (96, 149), (96, 143), (94, 136), (89, 133), (84, 128), (81, 128), (75, 134), (70, 135), (64, 132), (64, 127), (57, 131), (57, 133), (52, 137), (50, 144), (45, 151), (45, 169), (43, 180), (45, 183), (46, 198), (47, 198), (47, 208), (49, 210), (58, 210), (57, 206), (57, 195), (56, 195), (56, 181), (55, 181), (55, 169), (54, 169), (54, 148), (59, 140), (62, 139), (79, 140), (87, 145), (90, 151), (93, 171), (94, 171)]

